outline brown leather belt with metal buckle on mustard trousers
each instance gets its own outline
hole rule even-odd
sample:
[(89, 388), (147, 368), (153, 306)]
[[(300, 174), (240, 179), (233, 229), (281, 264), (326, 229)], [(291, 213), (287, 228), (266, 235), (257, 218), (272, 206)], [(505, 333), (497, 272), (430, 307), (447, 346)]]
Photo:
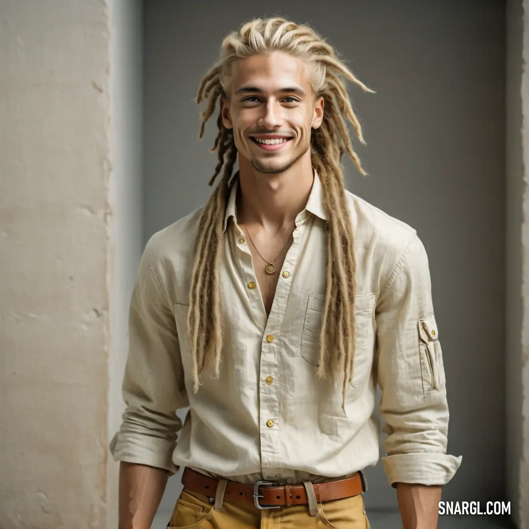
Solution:
[[(182, 476), (182, 484), (185, 488), (210, 498), (215, 497), (218, 482), (218, 479), (209, 478), (187, 467)], [(267, 483), (268, 485), (266, 485)], [(358, 472), (348, 479), (329, 481), (313, 486), (318, 501), (349, 498), (367, 490), (366, 480), (362, 472)], [(255, 503), (258, 507), (308, 504), (304, 485), (274, 486), (267, 481), (257, 481), (253, 486), (228, 481), (224, 499)]]

